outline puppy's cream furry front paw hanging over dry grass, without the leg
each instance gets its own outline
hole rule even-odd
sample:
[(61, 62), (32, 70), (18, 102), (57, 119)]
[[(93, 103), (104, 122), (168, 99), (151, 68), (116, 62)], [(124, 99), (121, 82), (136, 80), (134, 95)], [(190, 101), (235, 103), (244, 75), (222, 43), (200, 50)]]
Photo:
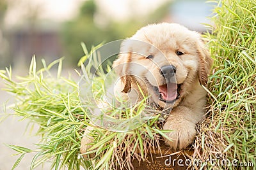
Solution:
[(173, 149), (186, 148), (193, 142), (196, 136), (195, 124), (188, 120), (167, 120), (163, 127), (164, 130), (173, 130), (172, 132), (166, 133), (166, 135), (172, 139), (164, 139), (165, 143)]

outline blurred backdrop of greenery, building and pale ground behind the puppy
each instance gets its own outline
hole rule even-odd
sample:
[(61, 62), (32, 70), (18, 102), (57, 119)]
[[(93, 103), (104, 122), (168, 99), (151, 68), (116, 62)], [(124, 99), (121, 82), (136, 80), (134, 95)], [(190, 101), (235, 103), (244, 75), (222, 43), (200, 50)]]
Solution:
[[(211, 24), (206, 18), (211, 9), (204, 0), (0, 0), (0, 69), (12, 66), (16, 74), (26, 74), (35, 55), (38, 63), (45, 59), (48, 64), (65, 57), (64, 70), (74, 71), (84, 55), (81, 42), (90, 50), (157, 22), (205, 32), (202, 23)], [(3, 90), (0, 96), (0, 104), (13, 101)], [(24, 135), (28, 122), (18, 120), (9, 117), (0, 124), (0, 170), (11, 169), (17, 159), (3, 143), (33, 148), (38, 141)], [(32, 158), (26, 156), (17, 169), (29, 169)]]

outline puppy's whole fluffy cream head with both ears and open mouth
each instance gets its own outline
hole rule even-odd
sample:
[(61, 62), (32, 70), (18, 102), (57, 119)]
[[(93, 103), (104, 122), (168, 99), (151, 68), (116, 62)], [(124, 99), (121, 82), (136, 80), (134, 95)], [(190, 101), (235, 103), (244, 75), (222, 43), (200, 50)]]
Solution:
[(125, 40), (113, 67), (124, 92), (137, 83), (150, 101), (168, 108), (177, 106), (196, 81), (207, 84), (211, 59), (198, 33), (163, 23), (143, 27)]

